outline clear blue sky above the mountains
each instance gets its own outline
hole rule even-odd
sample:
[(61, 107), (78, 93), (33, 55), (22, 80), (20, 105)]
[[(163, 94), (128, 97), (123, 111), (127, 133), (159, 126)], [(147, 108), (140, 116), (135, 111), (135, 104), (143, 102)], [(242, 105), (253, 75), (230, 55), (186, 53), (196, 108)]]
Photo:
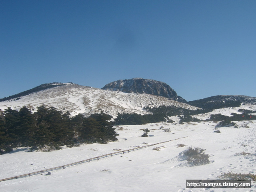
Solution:
[(255, 73), (256, 0), (0, 0), (0, 98), (135, 77), (256, 97)]

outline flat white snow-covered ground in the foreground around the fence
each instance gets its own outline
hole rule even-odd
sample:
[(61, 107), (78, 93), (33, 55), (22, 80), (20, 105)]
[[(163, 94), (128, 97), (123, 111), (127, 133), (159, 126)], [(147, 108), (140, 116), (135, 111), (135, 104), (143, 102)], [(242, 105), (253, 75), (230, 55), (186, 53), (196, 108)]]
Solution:
[[(216, 123), (154, 123), (116, 127), (118, 141), (108, 144), (85, 144), (52, 152), (27, 152), (18, 148), (0, 156), (0, 179), (62, 166), (88, 158), (126, 150), (136, 146), (158, 144), (51, 171), (0, 182), (1, 192), (253, 192), (251, 188), (186, 188), (188, 179), (218, 179), (224, 172), (256, 174), (256, 121), (237, 122), (240, 128), (219, 128)], [(149, 137), (140, 137), (148, 128)], [(161, 128), (161, 129), (160, 129)], [(170, 128), (171, 132), (163, 129)], [(185, 147), (178, 147), (184, 144)], [(179, 157), (189, 146), (200, 147), (210, 155), (210, 164), (188, 166)], [(160, 150), (153, 148), (160, 147)], [(248, 153), (241, 155), (241, 152)]]

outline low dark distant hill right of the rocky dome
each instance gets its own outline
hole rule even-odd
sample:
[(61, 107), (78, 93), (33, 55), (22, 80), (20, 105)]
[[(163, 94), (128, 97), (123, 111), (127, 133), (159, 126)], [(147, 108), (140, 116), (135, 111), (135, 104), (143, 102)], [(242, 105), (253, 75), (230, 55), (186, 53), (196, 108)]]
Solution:
[(198, 108), (214, 110), (224, 107), (239, 107), (241, 104), (248, 103), (256, 105), (256, 98), (242, 95), (218, 95), (186, 103)]

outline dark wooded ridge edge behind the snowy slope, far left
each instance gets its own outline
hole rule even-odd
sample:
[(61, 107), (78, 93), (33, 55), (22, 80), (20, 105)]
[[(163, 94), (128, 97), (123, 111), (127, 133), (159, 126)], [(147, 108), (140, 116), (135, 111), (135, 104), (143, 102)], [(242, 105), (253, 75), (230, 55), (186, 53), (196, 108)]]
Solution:
[(28, 94), (31, 94), (31, 93), (35, 93), (35, 92), (38, 92), (38, 91), (42, 91), (42, 90), (45, 90), (45, 89), (48, 89), (48, 88), (53, 88), (53, 87), (57, 87), (57, 86), (64, 86), (66, 84), (64, 83), (46, 83), (46, 84), (42, 84), (40, 86), (37, 86), (35, 88), (32, 88), (30, 90), (26, 90), (24, 92), (21, 92), (21, 93), (18, 93), (18, 94), (15, 94), (15, 95), (12, 95), (12, 96), (8, 96), (8, 97), (5, 97), (5, 98), (2, 98), (0, 99), (0, 102), (1, 101), (7, 101), (7, 100), (11, 100), (11, 99), (16, 99), (18, 100), (19, 97), (22, 97), (22, 96), (26, 96)]

